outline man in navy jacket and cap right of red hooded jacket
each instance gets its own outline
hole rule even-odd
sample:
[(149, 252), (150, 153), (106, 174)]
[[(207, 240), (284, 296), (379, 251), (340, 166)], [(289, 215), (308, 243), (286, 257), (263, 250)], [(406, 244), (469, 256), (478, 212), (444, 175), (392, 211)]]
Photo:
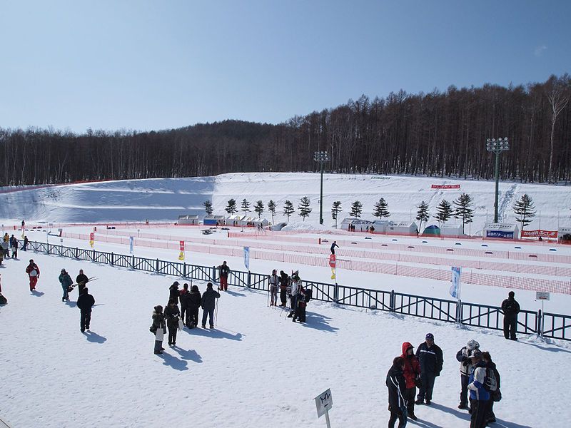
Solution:
[(426, 399), (426, 404), (430, 406), (433, 399), (434, 380), (440, 376), (444, 364), (442, 350), (434, 343), (432, 333), (428, 333), (425, 342), (418, 345), (416, 357), (420, 362), (420, 387), (415, 404), (423, 404)]

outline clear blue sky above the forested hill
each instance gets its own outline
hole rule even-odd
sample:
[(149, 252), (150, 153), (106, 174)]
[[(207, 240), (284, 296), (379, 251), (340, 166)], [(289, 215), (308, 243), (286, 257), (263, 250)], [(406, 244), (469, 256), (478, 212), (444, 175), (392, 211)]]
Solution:
[(0, 0), (0, 127), (281, 123), (571, 72), (571, 1)]

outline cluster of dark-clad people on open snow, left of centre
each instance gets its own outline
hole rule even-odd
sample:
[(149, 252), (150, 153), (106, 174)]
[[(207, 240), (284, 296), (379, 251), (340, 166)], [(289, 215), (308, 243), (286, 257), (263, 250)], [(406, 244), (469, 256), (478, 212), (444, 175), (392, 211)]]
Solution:
[[(202, 308), (202, 328), (214, 328), (214, 310), (220, 293), (213, 288), (212, 282), (206, 284), (206, 291), (201, 294), (198, 286), (192, 285), (188, 290), (188, 284), (183, 285), (183, 289), (178, 289), (179, 282), (175, 281), (169, 287), (168, 304), (163, 310), (161, 305), (153, 308), (153, 324), (150, 329), (155, 335), (155, 354), (163, 353), (163, 335), (168, 329), (168, 346), (176, 346), (176, 334), (183, 327), (189, 329), (198, 327), (198, 308)], [(179, 310), (178, 304), (181, 308)]]

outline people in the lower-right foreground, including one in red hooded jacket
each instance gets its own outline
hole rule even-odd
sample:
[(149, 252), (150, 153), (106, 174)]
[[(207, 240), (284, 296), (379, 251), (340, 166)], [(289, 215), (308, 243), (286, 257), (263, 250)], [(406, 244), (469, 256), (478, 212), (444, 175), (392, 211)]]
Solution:
[[(417, 420), (415, 404), (432, 404), (435, 379), (440, 376), (444, 364), (443, 352), (435, 345), (432, 333), (426, 335), (425, 342), (418, 345), (416, 353), (410, 342), (403, 343), (402, 351), (399, 357), (394, 358), (385, 382), (388, 387), (389, 428), (394, 428), (397, 420), (398, 428), (405, 427), (408, 418)], [(483, 428), (495, 422), (493, 403), (501, 399), (500, 374), (490, 353), (481, 352), (480, 344), (469, 340), (458, 351), (456, 360), (460, 362), (458, 409), (470, 412), (470, 428)]]

